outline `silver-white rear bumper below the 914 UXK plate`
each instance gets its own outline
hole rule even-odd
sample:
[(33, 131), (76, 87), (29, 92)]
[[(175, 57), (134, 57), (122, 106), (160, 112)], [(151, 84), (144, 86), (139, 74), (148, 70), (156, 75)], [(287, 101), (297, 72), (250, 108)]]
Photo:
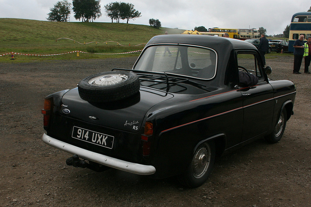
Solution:
[(46, 134), (42, 136), (43, 142), (52, 147), (60, 149), (62, 151), (68, 152), (72, 155), (79, 155), (86, 160), (90, 160), (111, 168), (115, 168), (121, 171), (126, 171), (129, 173), (140, 174), (140, 175), (150, 175), (155, 173), (155, 167), (151, 165), (141, 165), (133, 162), (127, 162), (124, 160), (116, 159), (106, 155), (94, 153), (80, 147), (68, 144), (63, 141), (59, 141), (55, 138), (52, 138)]

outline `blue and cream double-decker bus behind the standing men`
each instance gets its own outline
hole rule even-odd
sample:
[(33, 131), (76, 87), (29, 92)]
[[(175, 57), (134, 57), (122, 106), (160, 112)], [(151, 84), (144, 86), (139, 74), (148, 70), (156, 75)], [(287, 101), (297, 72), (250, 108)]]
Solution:
[(290, 25), (288, 51), (294, 52), (294, 41), (304, 35), (306, 40), (311, 36), (311, 12), (298, 12), (293, 15)]

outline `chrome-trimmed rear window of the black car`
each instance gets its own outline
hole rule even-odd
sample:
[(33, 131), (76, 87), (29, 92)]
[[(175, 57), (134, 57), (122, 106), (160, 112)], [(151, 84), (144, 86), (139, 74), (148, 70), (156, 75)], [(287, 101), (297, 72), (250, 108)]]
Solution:
[(215, 51), (181, 45), (148, 47), (134, 66), (136, 70), (166, 72), (203, 79), (213, 78), (216, 68)]

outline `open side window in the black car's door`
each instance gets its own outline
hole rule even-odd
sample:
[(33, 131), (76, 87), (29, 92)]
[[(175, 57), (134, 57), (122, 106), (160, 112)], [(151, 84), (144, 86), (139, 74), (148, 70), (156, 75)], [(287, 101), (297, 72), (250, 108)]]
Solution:
[(259, 56), (253, 53), (238, 53), (238, 69), (242, 72), (249, 72), (256, 75), (259, 81), (263, 81), (264, 77), (259, 67)]

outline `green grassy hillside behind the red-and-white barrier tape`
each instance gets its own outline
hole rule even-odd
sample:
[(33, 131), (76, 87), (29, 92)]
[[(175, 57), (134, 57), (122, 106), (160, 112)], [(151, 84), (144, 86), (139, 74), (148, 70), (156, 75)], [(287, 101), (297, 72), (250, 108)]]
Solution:
[[(80, 52), (79, 57), (77, 57), (77, 53), (55, 56), (14, 54), (14, 62), (133, 56), (138, 55), (139, 52), (112, 55), (93, 53), (123, 53), (141, 50), (144, 45), (135, 45), (145, 44), (153, 36), (162, 35), (165, 31), (168, 31), (170, 34), (184, 32), (184, 30), (179, 29), (155, 29), (148, 25), (125, 23), (51, 22), (0, 18), (0, 55), (8, 52), (25, 54), (59, 54), (72, 51), (89, 52), (87, 54)], [(58, 38), (70, 38), (72, 40)], [(56, 39), (58, 40), (56, 41)], [(0, 56), (0, 62), (12, 62), (10, 57), (11, 54)]]

